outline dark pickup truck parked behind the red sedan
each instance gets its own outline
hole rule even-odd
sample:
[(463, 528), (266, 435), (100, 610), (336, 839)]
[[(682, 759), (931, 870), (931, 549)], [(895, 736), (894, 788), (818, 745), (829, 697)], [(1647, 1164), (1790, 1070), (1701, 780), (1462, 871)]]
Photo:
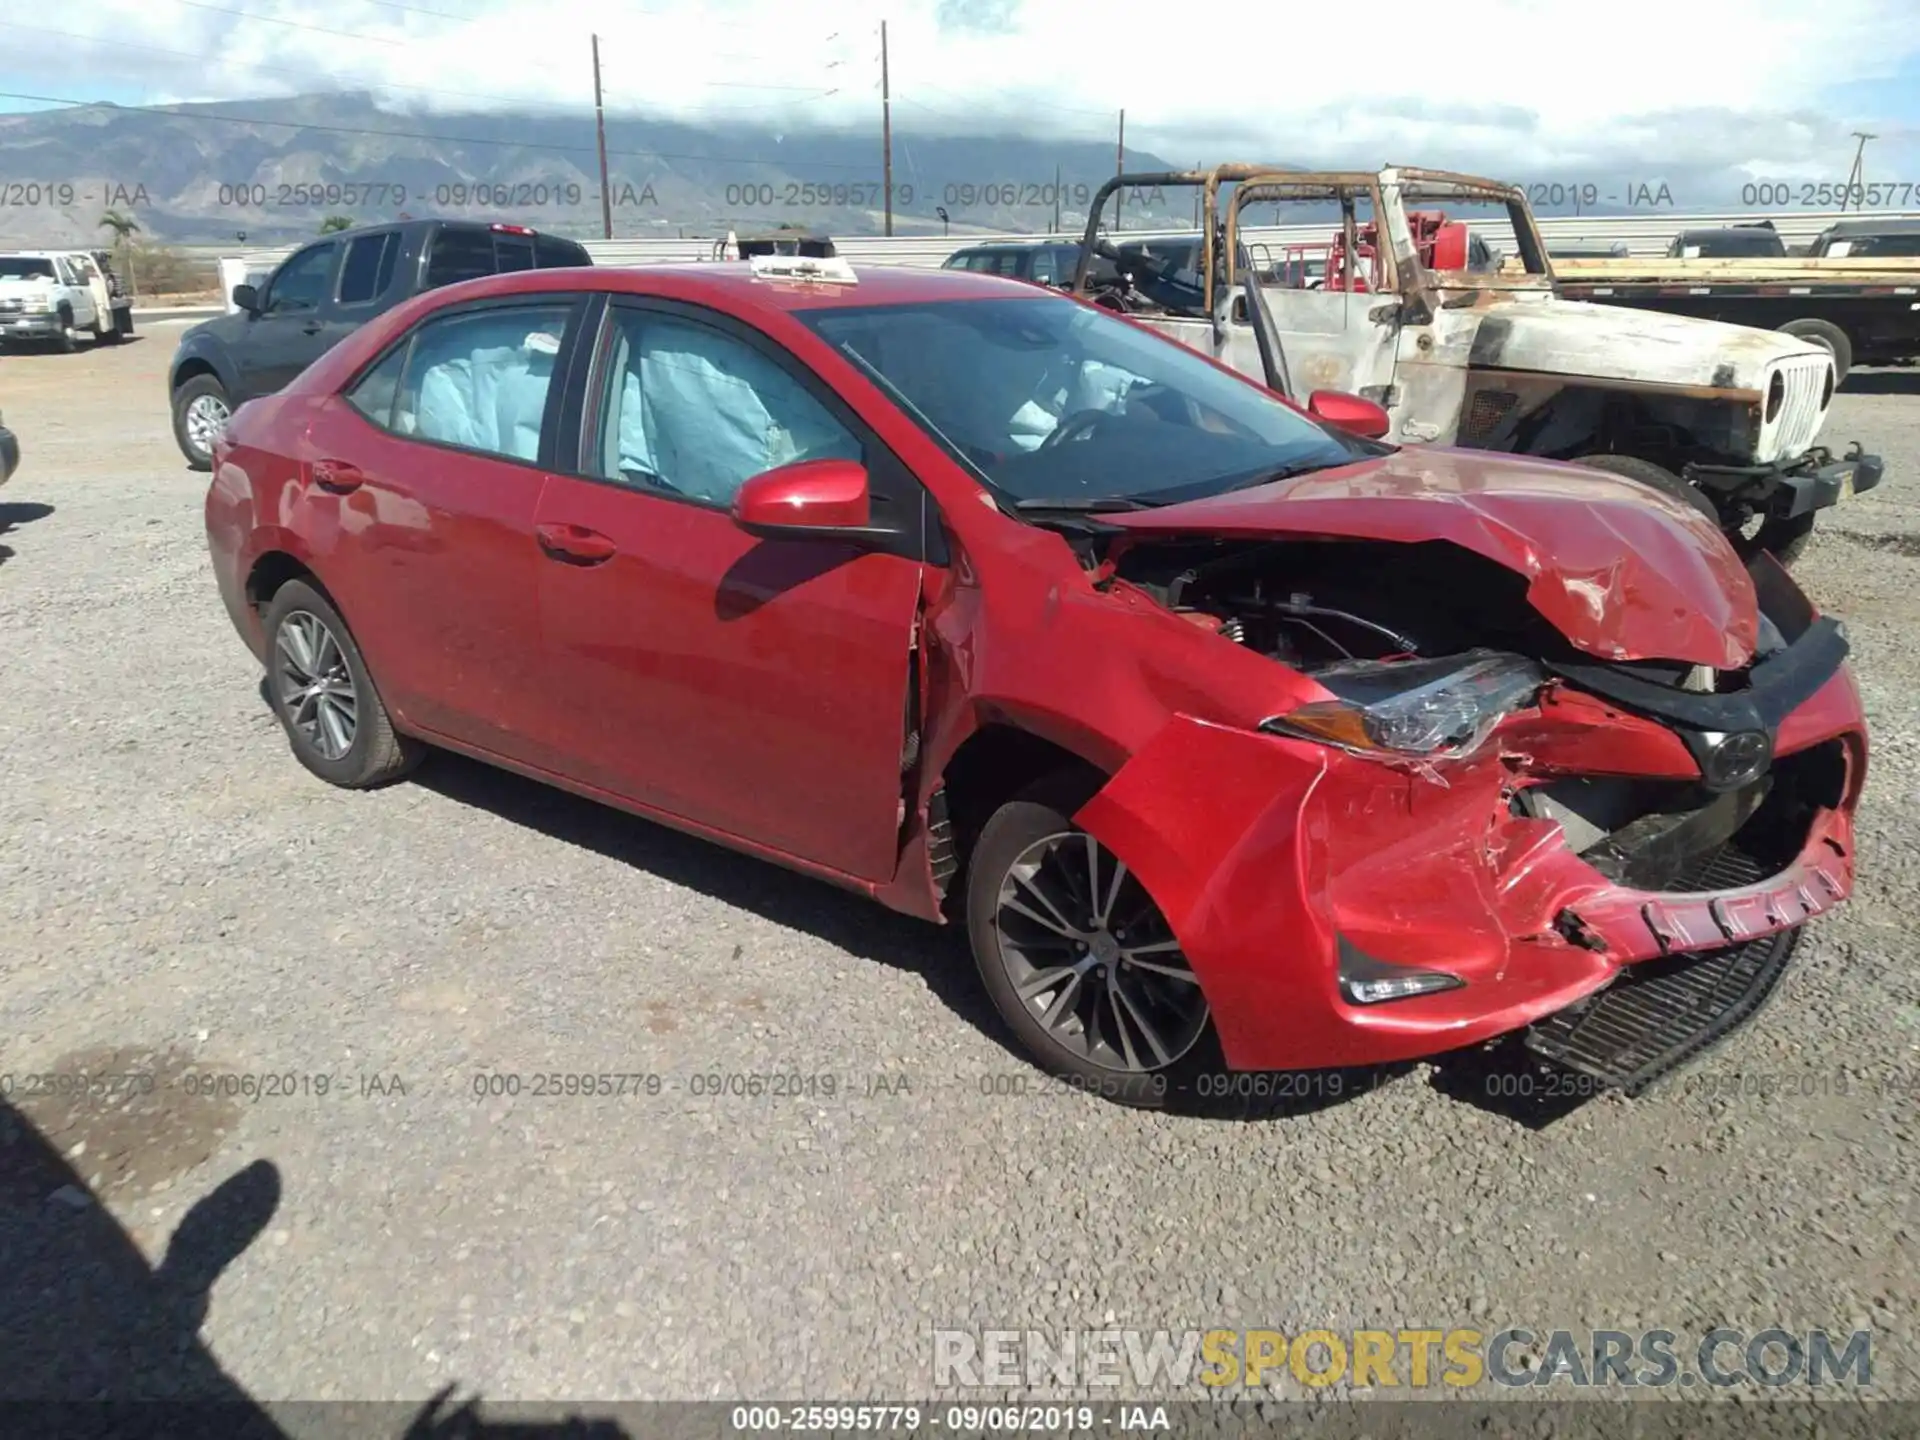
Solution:
[(580, 244), (524, 225), (399, 221), (338, 230), (296, 250), (259, 286), (234, 286), (238, 313), (180, 336), (167, 374), (173, 438), (186, 463), (205, 470), (213, 440), (240, 405), (284, 388), (403, 300), (503, 271), (591, 263)]

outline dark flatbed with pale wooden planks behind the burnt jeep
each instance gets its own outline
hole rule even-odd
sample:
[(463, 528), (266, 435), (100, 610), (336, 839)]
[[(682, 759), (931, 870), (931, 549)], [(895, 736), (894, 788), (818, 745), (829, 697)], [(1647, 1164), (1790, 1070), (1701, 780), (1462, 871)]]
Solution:
[(1920, 259), (1553, 259), (1553, 278), (1567, 300), (1812, 340), (1839, 378), (1920, 361)]

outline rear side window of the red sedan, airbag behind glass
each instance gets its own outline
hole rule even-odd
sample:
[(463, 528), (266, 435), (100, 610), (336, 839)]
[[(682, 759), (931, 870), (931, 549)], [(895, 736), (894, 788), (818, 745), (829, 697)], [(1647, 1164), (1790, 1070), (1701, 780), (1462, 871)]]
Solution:
[(348, 399), (394, 434), (532, 463), (570, 309), (501, 305), (424, 321)]

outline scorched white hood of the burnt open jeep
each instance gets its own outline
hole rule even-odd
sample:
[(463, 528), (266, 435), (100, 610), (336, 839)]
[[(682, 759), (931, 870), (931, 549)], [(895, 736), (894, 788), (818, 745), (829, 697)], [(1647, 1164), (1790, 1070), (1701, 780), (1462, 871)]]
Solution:
[(1500, 371), (1764, 390), (1766, 367), (1774, 361), (1826, 353), (1809, 340), (1774, 330), (1548, 294), (1488, 300), (1452, 315), (1478, 323), (1469, 363)]

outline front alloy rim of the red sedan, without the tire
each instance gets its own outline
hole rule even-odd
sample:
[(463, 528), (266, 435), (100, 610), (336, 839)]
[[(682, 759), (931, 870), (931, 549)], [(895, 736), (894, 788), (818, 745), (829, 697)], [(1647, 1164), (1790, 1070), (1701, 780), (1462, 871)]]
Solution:
[(1014, 858), (993, 925), (1021, 1004), (1092, 1066), (1165, 1069), (1206, 1031), (1206, 995), (1160, 906), (1085, 831), (1046, 835)]

